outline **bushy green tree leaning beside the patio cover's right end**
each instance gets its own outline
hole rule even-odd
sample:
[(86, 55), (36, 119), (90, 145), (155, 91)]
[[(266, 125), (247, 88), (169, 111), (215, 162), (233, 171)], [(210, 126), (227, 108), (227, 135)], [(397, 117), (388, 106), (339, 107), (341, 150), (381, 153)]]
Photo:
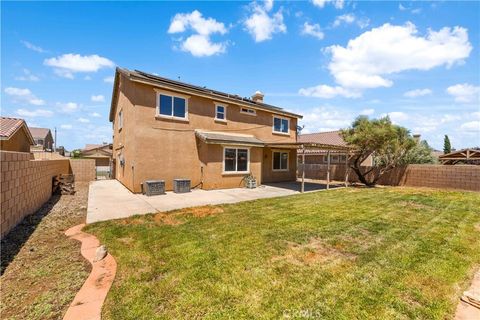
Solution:
[[(368, 187), (375, 186), (382, 175), (404, 164), (406, 155), (416, 145), (409, 131), (392, 124), (389, 117), (369, 120), (359, 116), (350, 128), (342, 130), (342, 136), (355, 151), (352, 170)], [(361, 164), (370, 155), (373, 166), (363, 170)]]

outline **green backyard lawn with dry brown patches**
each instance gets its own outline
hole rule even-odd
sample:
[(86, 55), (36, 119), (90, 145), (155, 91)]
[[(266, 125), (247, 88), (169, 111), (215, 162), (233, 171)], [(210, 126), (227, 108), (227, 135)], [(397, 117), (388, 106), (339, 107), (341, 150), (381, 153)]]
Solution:
[(342, 189), (97, 223), (103, 315), (451, 318), (480, 265), (480, 193)]

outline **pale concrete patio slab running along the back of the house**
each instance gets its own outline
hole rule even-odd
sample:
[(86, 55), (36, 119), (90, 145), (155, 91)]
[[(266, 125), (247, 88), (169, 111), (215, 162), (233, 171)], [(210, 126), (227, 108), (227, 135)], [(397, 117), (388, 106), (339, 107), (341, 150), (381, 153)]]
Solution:
[[(275, 183), (256, 189), (193, 190), (189, 193), (167, 192), (165, 195), (147, 197), (130, 192), (117, 180), (94, 181), (88, 193), (87, 223), (195, 206), (289, 196), (300, 193), (299, 186), (298, 182)], [(305, 184), (306, 192), (323, 189), (323, 184)]]

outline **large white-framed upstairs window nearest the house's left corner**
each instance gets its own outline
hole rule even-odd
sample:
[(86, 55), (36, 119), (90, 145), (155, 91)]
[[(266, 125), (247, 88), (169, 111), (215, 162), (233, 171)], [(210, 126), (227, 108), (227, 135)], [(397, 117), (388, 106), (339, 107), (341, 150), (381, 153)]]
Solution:
[(157, 91), (157, 117), (188, 120), (188, 98), (163, 90)]

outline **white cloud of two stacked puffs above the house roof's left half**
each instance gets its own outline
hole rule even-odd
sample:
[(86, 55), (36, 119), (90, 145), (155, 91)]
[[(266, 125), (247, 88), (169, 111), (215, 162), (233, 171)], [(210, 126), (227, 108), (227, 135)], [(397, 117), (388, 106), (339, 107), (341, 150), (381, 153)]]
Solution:
[(182, 39), (181, 50), (190, 52), (195, 57), (207, 57), (226, 51), (225, 42), (215, 43), (210, 39), (212, 34), (227, 33), (228, 30), (222, 22), (213, 18), (205, 19), (198, 10), (191, 13), (177, 13), (170, 23), (168, 33), (182, 33), (189, 29), (193, 30), (194, 34), (184, 41)]

